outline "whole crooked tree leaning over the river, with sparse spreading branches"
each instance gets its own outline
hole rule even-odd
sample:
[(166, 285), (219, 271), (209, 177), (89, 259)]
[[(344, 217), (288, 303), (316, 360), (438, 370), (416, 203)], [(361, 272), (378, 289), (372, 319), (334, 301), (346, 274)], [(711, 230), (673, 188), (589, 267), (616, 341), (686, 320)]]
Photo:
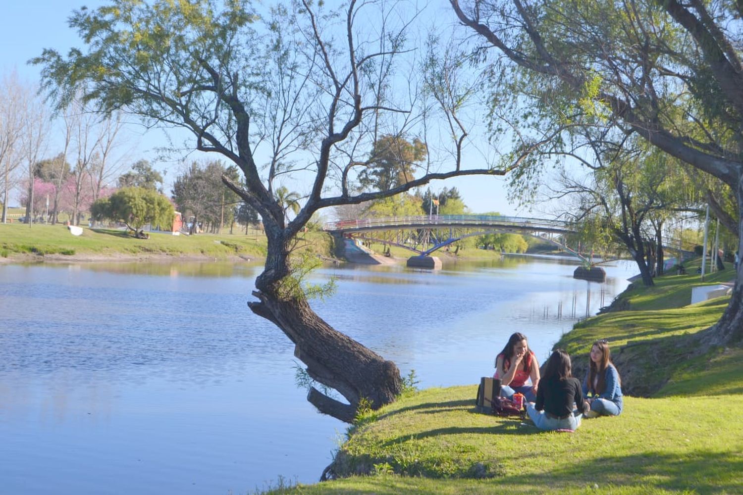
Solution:
[[(319, 318), (296, 290), (305, 273), (290, 256), (297, 233), (319, 209), (392, 197), (431, 180), (506, 174), (549, 142), (531, 138), (513, 160), (467, 167), (461, 157), (471, 141), (463, 134), (444, 149), (442, 139), (441, 155), (418, 177), (406, 174), (405, 183), (389, 189), (354, 192), (366, 161), (376, 156), (377, 136), (422, 140), (422, 114), (443, 118), (463, 108), (422, 108), (412, 92), (425, 82), (413, 80), (423, 68), (406, 46), (415, 20), (408, 7), (301, 0), (259, 11), (262, 4), (242, 1), (222, 7), (215, 0), (109, 0), (71, 16), (85, 50), (68, 56), (44, 50), (34, 60), (58, 107), (82, 88), (85, 101), (103, 114), (121, 109), (147, 125), (185, 128), (195, 149), (239, 167), (244, 187), (222, 180), (259, 212), (267, 236), (265, 271), (256, 278), (250, 309), (293, 341), (311, 378), (345, 397), (347, 404), (317, 387), (308, 394), (320, 411), (345, 421), (362, 401), (373, 408), (393, 401), (400, 373)], [(291, 221), (274, 194), (283, 174), (309, 181)]]

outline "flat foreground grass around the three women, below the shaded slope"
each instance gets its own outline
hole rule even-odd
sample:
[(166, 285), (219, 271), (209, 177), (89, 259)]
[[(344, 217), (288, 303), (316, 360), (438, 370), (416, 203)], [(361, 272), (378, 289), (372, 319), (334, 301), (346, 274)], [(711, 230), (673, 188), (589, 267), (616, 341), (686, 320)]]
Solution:
[[(628, 397), (576, 433), (476, 413), (476, 386), (429, 389), (377, 412), (337, 454), (351, 477), (295, 493), (734, 493), (743, 396)], [(395, 476), (390, 476), (394, 474)], [(478, 477), (482, 479), (477, 479)]]

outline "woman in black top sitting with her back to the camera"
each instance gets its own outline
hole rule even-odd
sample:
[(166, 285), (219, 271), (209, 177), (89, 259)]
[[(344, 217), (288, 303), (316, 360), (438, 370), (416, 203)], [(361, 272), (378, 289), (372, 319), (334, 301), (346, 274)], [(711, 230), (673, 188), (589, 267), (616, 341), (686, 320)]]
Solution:
[(554, 350), (539, 382), (536, 404), (529, 402), (526, 406), (526, 412), (540, 430), (575, 430), (580, 426), (585, 402), (580, 381), (573, 378), (570, 370), (568, 353)]

